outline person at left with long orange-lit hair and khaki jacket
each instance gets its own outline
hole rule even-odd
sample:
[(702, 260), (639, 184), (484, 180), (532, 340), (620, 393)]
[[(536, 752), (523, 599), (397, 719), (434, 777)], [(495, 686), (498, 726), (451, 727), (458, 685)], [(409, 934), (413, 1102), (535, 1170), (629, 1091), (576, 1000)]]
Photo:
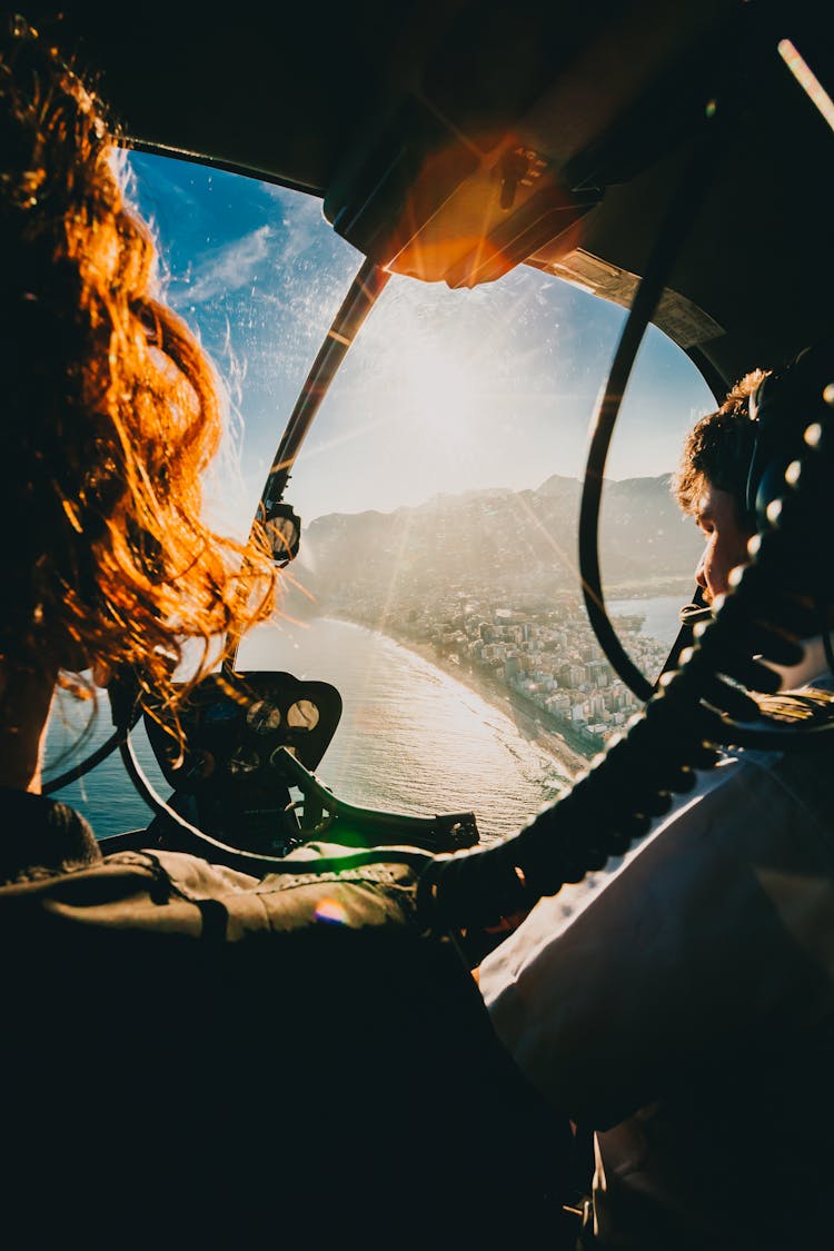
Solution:
[(540, 1241), (566, 1125), (414, 923), (409, 869), (103, 857), (40, 793), (56, 684), (129, 667), (174, 704), (183, 642), (275, 594), (266, 550), (201, 519), (220, 389), (121, 165), (98, 96), (0, 18), (4, 1245)]

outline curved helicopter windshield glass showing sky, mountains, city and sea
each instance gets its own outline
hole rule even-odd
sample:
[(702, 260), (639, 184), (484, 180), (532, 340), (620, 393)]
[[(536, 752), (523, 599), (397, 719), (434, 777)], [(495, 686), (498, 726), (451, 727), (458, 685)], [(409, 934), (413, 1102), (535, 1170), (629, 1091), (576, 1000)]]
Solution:
[[(364, 258), (316, 198), (149, 154), (130, 166), (168, 298), (226, 389), (206, 508), (243, 537)], [(279, 614), (238, 658), (339, 688), (341, 724), (316, 772), (341, 798), (471, 809), (485, 839), (509, 834), (640, 707), (596, 646), (576, 570), (589, 422), (624, 318), (524, 265), (473, 290), (391, 276), (285, 492), (303, 529)], [(684, 353), (651, 329), (614, 437), (600, 533), (608, 610), (650, 681), (700, 550), (669, 475), (684, 432), (713, 405)], [(105, 704), (84, 749), (110, 729)], [(46, 778), (75, 759), (66, 753), (88, 717), (63, 701)], [(149, 821), (118, 757), (61, 797), (99, 837)]]

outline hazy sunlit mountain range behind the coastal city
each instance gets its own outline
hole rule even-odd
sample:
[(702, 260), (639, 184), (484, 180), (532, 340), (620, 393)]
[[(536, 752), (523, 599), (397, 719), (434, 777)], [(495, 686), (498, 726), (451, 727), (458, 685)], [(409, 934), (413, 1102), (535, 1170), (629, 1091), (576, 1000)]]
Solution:
[[(694, 573), (703, 539), (669, 487), (670, 474), (604, 484), (606, 593)], [(536, 490), (474, 490), (393, 513), (331, 513), (305, 527), (296, 577), (319, 607), (380, 592), (416, 599), (455, 589), (576, 588), (580, 499), (576, 479), (554, 475)]]

